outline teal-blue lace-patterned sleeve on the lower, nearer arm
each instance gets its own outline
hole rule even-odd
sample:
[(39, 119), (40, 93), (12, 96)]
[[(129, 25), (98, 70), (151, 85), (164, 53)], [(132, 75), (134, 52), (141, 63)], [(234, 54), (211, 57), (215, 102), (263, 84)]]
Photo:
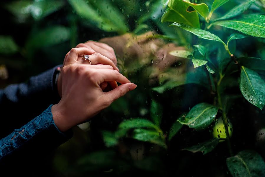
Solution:
[(27, 157), (36, 150), (42, 153), (49, 151), (72, 137), (71, 130), (65, 133), (58, 130), (52, 119), (51, 107), (0, 140), (0, 162), (17, 154), (21, 158), (21, 155)]

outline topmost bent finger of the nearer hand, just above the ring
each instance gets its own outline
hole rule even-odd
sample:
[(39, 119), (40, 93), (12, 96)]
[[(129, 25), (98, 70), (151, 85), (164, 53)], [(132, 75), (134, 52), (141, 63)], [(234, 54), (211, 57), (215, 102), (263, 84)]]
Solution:
[(83, 55), (83, 54), (91, 55), (92, 52), (91, 52), (90, 49), (88, 49), (86, 47), (72, 48), (70, 50), (69, 55), (65, 59), (65, 64), (68, 65), (68, 64), (71, 64), (71, 63), (76, 63), (77, 59), (78, 59), (78, 56), (79, 55)]

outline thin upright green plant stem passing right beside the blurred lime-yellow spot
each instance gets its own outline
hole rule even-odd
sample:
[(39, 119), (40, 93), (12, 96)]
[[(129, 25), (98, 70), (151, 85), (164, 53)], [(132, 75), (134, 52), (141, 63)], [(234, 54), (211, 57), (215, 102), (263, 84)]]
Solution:
[(221, 95), (220, 95), (220, 84), (221, 84), (221, 81), (222, 81), (223, 78), (224, 78), (224, 75), (222, 75), (220, 73), (220, 79), (219, 79), (219, 81), (217, 83), (217, 96), (218, 96), (219, 108), (222, 111), (222, 120), (223, 120), (223, 124), (224, 124), (225, 131), (226, 131), (227, 145), (228, 145), (228, 148), (229, 148), (229, 153), (232, 156), (233, 155), (233, 151), (232, 151), (232, 145), (231, 145), (231, 140), (230, 140), (230, 135), (229, 135), (229, 130), (228, 130), (228, 119), (227, 119), (227, 116), (226, 116), (226, 112), (225, 112), (225, 110), (223, 108)]

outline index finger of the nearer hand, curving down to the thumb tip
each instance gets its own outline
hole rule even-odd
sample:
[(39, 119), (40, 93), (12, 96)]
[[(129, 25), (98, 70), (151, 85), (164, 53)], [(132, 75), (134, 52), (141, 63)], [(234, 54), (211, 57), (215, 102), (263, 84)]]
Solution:
[(127, 79), (125, 76), (123, 76), (121, 73), (119, 73), (116, 70), (110, 70), (110, 69), (101, 69), (97, 71), (97, 75), (99, 76), (100, 83), (104, 81), (117, 81), (121, 84), (123, 83), (130, 83), (129, 79)]

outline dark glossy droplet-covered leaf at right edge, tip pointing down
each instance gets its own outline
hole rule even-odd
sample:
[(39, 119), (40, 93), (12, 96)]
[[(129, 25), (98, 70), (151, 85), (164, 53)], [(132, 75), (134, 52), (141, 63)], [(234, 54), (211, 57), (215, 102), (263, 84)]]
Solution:
[(259, 74), (242, 66), (239, 86), (245, 99), (262, 110), (265, 105), (265, 82)]

